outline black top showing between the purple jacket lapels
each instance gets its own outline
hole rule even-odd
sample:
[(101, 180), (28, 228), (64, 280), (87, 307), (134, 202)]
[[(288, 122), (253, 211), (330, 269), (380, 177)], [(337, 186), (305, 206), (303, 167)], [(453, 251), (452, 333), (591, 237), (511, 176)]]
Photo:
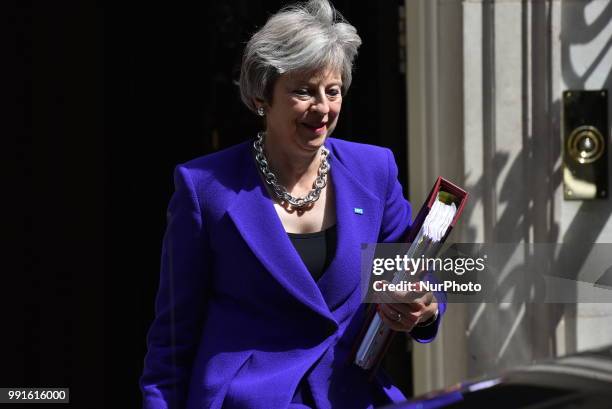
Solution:
[(336, 253), (336, 225), (315, 233), (287, 233), (293, 246), (318, 281)]

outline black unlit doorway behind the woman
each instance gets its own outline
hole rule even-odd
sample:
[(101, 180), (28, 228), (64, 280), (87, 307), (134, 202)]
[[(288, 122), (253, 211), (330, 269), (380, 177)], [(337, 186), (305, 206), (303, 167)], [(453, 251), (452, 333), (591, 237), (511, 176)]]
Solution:
[[(249, 35), (283, 4), (33, 1), (5, 14), (26, 78), (15, 87), (5, 386), (70, 386), (72, 407), (139, 407), (172, 170), (255, 135), (233, 82)], [(403, 1), (334, 4), (363, 39), (334, 136), (391, 148), (406, 186)], [(394, 362), (408, 374), (405, 359)]]

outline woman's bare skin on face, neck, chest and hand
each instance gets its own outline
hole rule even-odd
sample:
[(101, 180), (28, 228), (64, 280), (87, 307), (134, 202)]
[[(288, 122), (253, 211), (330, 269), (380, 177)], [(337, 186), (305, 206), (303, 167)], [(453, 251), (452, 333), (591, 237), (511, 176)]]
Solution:
[[(279, 183), (294, 197), (305, 196), (312, 189), (321, 161), (320, 148), (340, 116), (341, 87), (338, 70), (286, 73), (276, 80), (272, 101), (255, 101), (265, 112), (266, 158)], [(269, 187), (268, 190), (274, 197)], [(275, 201), (274, 208), (285, 231), (312, 233), (336, 223), (334, 202), (333, 183), (328, 174), (327, 186), (313, 206), (297, 210)], [(396, 291), (392, 297), (391, 303), (379, 304), (379, 314), (396, 331), (412, 330), (438, 309), (431, 292), (415, 295)]]

